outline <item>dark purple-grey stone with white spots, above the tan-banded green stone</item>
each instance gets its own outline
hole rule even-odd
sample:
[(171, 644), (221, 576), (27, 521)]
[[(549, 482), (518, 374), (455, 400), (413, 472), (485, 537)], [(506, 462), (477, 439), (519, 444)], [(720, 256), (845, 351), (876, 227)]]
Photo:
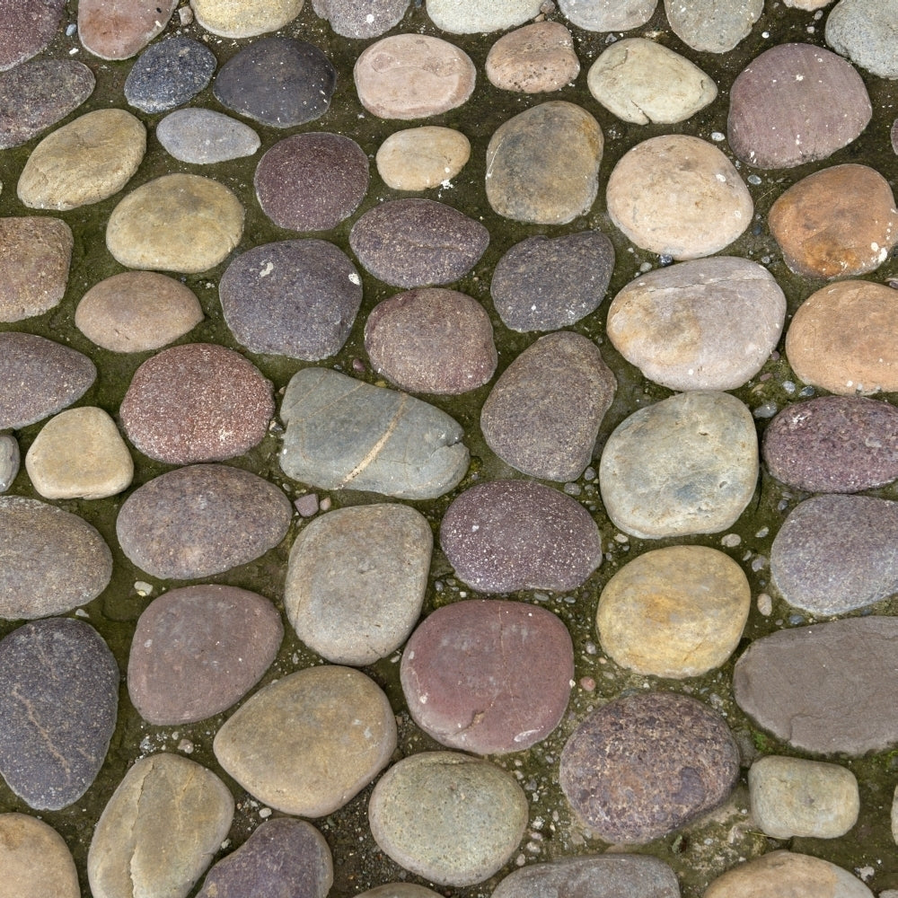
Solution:
[(218, 295), (227, 326), (251, 352), (315, 362), (346, 342), (362, 304), (362, 279), (333, 243), (281, 241), (233, 260)]

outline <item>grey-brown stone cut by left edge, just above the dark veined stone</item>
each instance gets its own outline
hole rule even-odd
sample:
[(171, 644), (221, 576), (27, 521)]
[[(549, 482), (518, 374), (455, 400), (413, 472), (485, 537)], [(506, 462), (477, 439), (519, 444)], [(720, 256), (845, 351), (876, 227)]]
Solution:
[(0, 496), (0, 618), (64, 614), (112, 578), (112, 553), (78, 515), (22, 496)]

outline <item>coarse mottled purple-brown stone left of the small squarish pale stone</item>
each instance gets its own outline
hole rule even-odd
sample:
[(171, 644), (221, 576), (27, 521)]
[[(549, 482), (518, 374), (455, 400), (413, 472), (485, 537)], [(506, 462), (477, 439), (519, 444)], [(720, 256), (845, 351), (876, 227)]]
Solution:
[(722, 804), (738, 776), (724, 718), (688, 696), (649, 692), (612, 700), (577, 726), (559, 780), (600, 839), (642, 844)]

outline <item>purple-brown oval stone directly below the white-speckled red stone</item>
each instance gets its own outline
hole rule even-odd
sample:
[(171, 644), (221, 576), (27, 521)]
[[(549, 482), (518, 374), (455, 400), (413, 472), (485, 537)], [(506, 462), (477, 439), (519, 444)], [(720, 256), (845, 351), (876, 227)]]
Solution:
[(128, 559), (151, 577), (189, 580), (260, 558), (284, 539), (292, 514), (290, 500), (268, 480), (229, 465), (195, 464), (131, 493), (116, 533)]

